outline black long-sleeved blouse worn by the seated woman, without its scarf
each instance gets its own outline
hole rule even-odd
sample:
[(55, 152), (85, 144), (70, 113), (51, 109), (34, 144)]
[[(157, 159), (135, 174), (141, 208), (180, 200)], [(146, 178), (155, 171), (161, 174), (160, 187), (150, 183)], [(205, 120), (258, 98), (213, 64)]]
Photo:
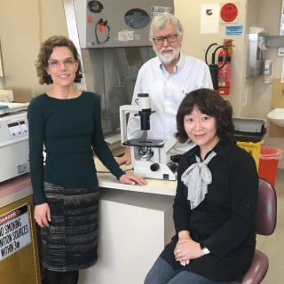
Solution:
[(256, 162), (233, 142), (220, 140), (212, 151), (217, 155), (208, 164), (212, 183), (204, 200), (191, 209), (187, 187), (181, 181), (185, 170), (196, 162), (195, 155), (201, 158), (200, 147), (195, 146), (180, 159), (173, 205), (176, 233), (189, 231), (193, 241), (202, 241), (210, 254), (182, 266), (173, 254), (178, 241), (176, 235), (161, 256), (175, 269), (182, 268), (210, 280), (241, 280), (256, 248)]

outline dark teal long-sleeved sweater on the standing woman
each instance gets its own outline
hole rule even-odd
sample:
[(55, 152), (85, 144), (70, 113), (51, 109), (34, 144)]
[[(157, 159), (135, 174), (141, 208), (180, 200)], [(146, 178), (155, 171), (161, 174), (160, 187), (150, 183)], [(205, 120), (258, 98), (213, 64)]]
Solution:
[(43, 180), (70, 188), (97, 186), (93, 151), (117, 179), (124, 174), (103, 137), (100, 101), (94, 93), (83, 91), (75, 99), (54, 99), (43, 93), (32, 99), (28, 106), (28, 131), (36, 205), (46, 202)]

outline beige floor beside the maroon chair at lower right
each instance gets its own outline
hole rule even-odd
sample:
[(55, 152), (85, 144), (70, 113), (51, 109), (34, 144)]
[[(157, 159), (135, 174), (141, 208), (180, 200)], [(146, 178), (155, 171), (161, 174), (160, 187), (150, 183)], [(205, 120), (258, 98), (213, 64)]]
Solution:
[(269, 269), (262, 284), (284, 283), (284, 170), (278, 170), (275, 191), (277, 195), (277, 225), (268, 237), (257, 235), (256, 248), (269, 258)]

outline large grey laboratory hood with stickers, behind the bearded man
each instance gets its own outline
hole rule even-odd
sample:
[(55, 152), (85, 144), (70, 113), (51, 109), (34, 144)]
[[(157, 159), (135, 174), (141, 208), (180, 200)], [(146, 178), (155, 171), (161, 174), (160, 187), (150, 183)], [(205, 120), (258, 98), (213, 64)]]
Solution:
[[(63, 0), (69, 38), (82, 59), (81, 91), (101, 101), (106, 142), (120, 140), (119, 106), (129, 105), (139, 68), (156, 55), (149, 26), (159, 12), (174, 12), (173, 0)], [(113, 138), (108, 138), (113, 136)], [(114, 136), (117, 139), (114, 139)]]

